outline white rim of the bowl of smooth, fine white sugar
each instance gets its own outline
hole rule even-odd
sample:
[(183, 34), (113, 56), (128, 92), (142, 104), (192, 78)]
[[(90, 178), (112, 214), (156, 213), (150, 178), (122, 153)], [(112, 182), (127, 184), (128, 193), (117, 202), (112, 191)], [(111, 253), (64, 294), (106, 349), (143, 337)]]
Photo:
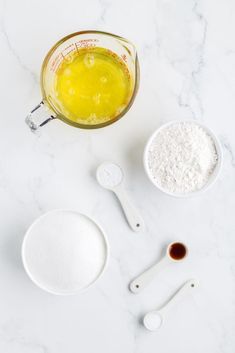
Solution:
[[(27, 265), (27, 262), (26, 262), (26, 258), (25, 258), (25, 246), (26, 246), (26, 242), (27, 242), (27, 239), (28, 237), (30, 236), (30, 233), (32, 231), (32, 229), (35, 227), (35, 225), (45, 216), (49, 215), (50, 213), (54, 213), (54, 212), (73, 212), (73, 213), (76, 213), (78, 214), (79, 216), (83, 216), (85, 218), (87, 218), (89, 221), (91, 221), (93, 224), (96, 225), (96, 227), (100, 230), (101, 232), (101, 235), (103, 236), (103, 240), (104, 240), (104, 243), (105, 243), (105, 248), (106, 248), (106, 258), (104, 259), (104, 265), (103, 265), (103, 268), (102, 270), (100, 271), (99, 275), (91, 282), (89, 283), (87, 286), (83, 287), (83, 288), (79, 288), (78, 290), (76, 291), (66, 291), (66, 292), (59, 292), (59, 291), (53, 291), (51, 290), (50, 288), (48, 288), (47, 286), (43, 285), (42, 283), (40, 283), (39, 281), (37, 281), (37, 279), (35, 278), (35, 276), (32, 275), (28, 265)], [(55, 294), (55, 295), (61, 295), (61, 296), (66, 296), (66, 295), (74, 295), (74, 294), (78, 294), (78, 293), (81, 293), (83, 291), (85, 291), (86, 289), (90, 288), (104, 273), (104, 271), (106, 270), (106, 267), (107, 267), (107, 263), (108, 263), (108, 259), (109, 259), (109, 243), (108, 243), (108, 240), (107, 240), (107, 236), (103, 230), (103, 228), (96, 222), (94, 221), (92, 218), (88, 217), (87, 215), (83, 214), (83, 213), (80, 213), (76, 210), (69, 210), (69, 209), (53, 209), (53, 210), (50, 210), (48, 212), (45, 212), (43, 213), (41, 216), (39, 216), (38, 218), (36, 218), (34, 220), (34, 222), (29, 226), (29, 228), (27, 229), (26, 233), (25, 233), (25, 236), (24, 236), (24, 239), (23, 239), (23, 242), (22, 242), (22, 247), (21, 247), (21, 257), (22, 257), (22, 262), (23, 262), (23, 266), (24, 266), (24, 269), (27, 273), (27, 275), (29, 276), (29, 278), (31, 279), (31, 281), (36, 284), (36, 286), (38, 286), (39, 288), (43, 289), (44, 291), (46, 292), (49, 292), (51, 294)]]

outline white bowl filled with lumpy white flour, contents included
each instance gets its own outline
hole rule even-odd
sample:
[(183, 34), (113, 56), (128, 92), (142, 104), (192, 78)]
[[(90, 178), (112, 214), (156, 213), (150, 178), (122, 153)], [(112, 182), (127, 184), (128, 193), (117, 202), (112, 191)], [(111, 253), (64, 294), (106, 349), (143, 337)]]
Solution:
[(216, 181), (222, 149), (215, 134), (194, 120), (171, 121), (149, 138), (144, 168), (162, 192), (188, 197), (206, 191)]

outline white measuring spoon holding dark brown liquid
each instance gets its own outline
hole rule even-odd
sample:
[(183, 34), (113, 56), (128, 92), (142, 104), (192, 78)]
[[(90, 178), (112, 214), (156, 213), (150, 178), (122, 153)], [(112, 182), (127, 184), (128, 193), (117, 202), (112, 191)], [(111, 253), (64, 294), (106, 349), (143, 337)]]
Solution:
[(174, 242), (169, 244), (165, 256), (130, 283), (131, 292), (135, 294), (141, 292), (163, 267), (171, 262), (180, 262), (184, 260), (187, 255), (188, 249), (183, 243)]

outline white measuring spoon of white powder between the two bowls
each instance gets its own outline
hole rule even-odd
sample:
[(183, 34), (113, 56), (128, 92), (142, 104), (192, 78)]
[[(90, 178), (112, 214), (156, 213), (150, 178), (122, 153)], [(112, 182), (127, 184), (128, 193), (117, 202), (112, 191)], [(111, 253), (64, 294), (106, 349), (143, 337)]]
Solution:
[(115, 193), (131, 229), (135, 232), (143, 230), (144, 221), (122, 187), (124, 173), (119, 165), (112, 162), (102, 163), (96, 171), (96, 178), (101, 186)]

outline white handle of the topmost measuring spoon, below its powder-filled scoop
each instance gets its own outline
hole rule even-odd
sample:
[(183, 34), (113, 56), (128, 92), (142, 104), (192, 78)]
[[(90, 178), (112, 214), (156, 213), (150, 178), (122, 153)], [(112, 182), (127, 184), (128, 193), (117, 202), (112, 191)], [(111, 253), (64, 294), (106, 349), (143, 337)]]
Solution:
[(144, 230), (144, 221), (139, 214), (139, 211), (134, 207), (126, 191), (121, 187), (116, 187), (113, 192), (117, 196), (126, 219), (134, 232), (140, 232)]

